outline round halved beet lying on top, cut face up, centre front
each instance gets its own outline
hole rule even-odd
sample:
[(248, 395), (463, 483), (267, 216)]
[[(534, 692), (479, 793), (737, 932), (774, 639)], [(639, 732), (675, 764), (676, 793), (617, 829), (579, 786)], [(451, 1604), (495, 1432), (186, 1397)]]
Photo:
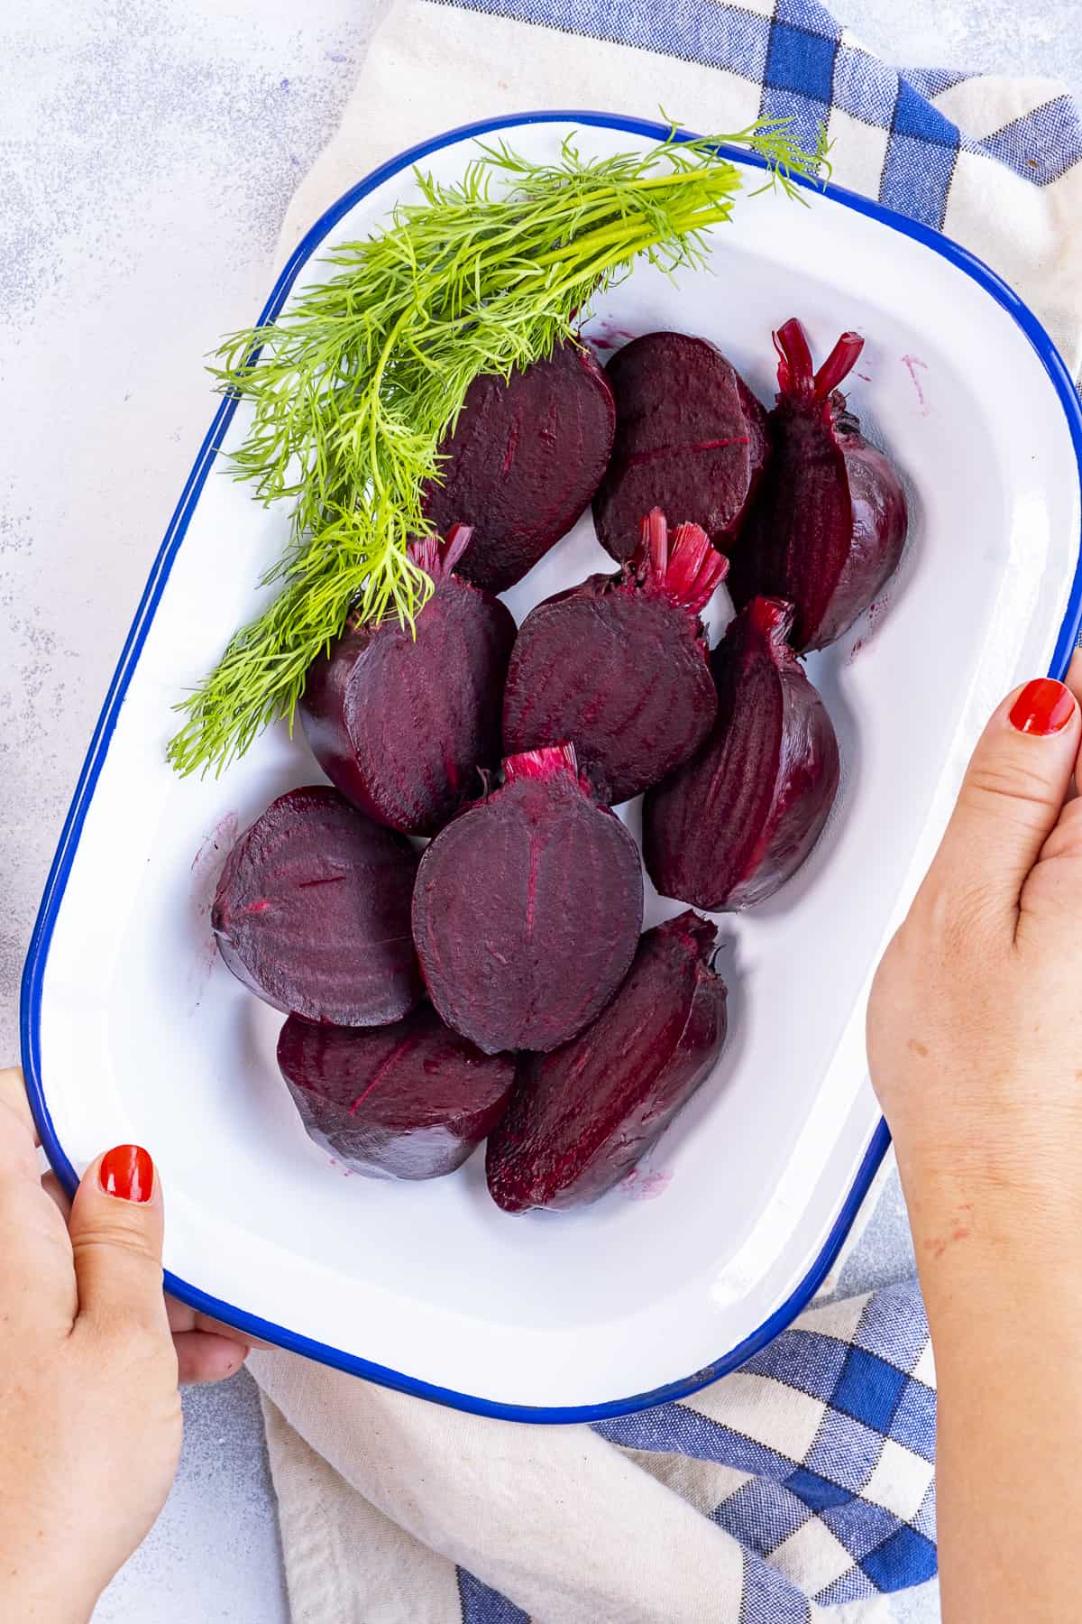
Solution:
[(414, 940), (432, 1002), (483, 1049), (555, 1049), (623, 981), (642, 926), (642, 870), (597, 806), (574, 749), (513, 755), (505, 783), (420, 859)]

